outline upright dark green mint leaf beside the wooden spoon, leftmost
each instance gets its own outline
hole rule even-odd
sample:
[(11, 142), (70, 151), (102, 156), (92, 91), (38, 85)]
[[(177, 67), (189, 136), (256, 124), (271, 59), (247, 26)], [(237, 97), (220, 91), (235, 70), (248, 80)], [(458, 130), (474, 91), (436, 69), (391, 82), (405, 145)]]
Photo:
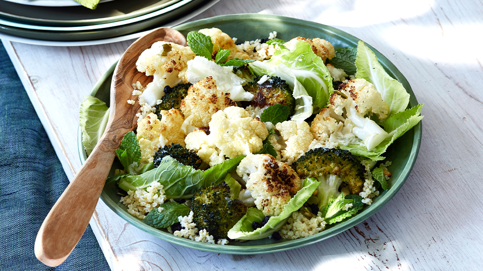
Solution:
[(124, 166), (124, 169), (131, 175), (137, 174), (137, 167), (141, 161), (141, 150), (139, 147), (138, 138), (133, 131), (125, 134), (122, 138), (119, 149), (116, 154)]

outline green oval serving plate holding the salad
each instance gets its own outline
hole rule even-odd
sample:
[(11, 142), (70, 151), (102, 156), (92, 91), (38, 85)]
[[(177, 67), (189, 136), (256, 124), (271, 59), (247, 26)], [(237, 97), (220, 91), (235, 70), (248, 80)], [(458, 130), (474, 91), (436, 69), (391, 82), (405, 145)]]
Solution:
[[(218, 16), (186, 23), (175, 28), (186, 35), (188, 32), (193, 30), (212, 27), (221, 29), (231, 37), (238, 38), (239, 41), (263, 39), (268, 37), (269, 33), (272, 31), (277, 31), (277, 38), (284, 40), (297, 36), (305, 38), (323, 38), (329, 40), (336, 48), (357, 46), (357, 42), (359, 41), (358, 38), (355, 38), (330, 26), (266, 14), (237, 14)], [(413, 107), (417, 105), (418, 102), (416, 97), (414, 96), (414, 93), (411, 90), (406, 78), (404, 78), (404, 76), (391, 62), (389, 62), (389, 60), (387, 60), (385, 56), (383, 56), (370, 45), (369, 47), (376, 53), (379, 61), (386, 69), (388, 74), (400, 81), (411, 95), (409, 106)], [(103, 100), (107, 103), (107, 105), (109, 105), (110, 82), (114, 68), (115, 64), (113, 64), (111, 68), (99, 79), (91, 92), (91, 95)], [(378, 197), (376, 197), (372, 205), (366, 205), (357, 215), (334, 226), (327, 227), (327, 229), (323, 232), (296, 240), (274, 241), (272, 239), (265, 238), (262, 240), (246, 242), (231, 241), (228, 245), (224, 246), (195, 242), (189, 239), (176, 237), (165, 231), (151, 228), (145, 225), (141, 220), (128, 214), (126, 212), (126, 207), (119, 203), (120, 196), (116, 194), (117, 186), (115, 183), (107, 184), (104, 187), (101, 194), (101, 199), (117, 215), (135, 227), (168, 242), (194, 249), (228, 254), (260, 254), (298, 248), (327, 239), (340, 232), (344, 232), (345, 230), (361, 223), (383, 207), (402, 187), (411, 173), (421, 143), (421, 132), (422, 129), (420, 122), (413, 129), (405, 133), (402, 137), (398, 138), (387, 150), (385, 155), (389, 161), (392, 161), (392, 165), (389, 167), (389, 171), (392, 174), (392, 177), (389, 180), (390, 189), (384, 191)], [(84, 162), (86, 160), (86, 153), (82, 145), (82, 133), (80, 129), (78, 144), (79, 155), (81, 161)], [(114, 164), (113, 168), (115, 166), (117, 165)]]

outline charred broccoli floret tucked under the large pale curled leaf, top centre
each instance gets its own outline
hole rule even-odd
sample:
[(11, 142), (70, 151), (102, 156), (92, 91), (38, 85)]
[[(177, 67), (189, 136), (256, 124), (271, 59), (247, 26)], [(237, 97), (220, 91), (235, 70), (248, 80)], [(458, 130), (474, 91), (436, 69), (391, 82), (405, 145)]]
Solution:
[[(260, 83), (259, 83), (260, 82)], [(252, 110), (263, 111), (265, 108), (282, 104), (290, 109), (290, 116), (295, 111), (295, 98), (289, 84), (280, 77), (257, 76), (254, 80), (243, 86), (243, 89), (254, 95), (250, 102)]]

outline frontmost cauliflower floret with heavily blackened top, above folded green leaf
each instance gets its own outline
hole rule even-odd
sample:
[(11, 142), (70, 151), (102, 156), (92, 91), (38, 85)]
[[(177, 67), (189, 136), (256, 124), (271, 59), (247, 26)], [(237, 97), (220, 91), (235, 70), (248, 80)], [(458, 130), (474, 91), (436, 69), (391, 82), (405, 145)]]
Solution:
[(272, 155), (246, 156), (238, 165), (237, 174), (246, 182), (256, 207), (265, 216), (280, 215), (302, 186), (295, 171)]

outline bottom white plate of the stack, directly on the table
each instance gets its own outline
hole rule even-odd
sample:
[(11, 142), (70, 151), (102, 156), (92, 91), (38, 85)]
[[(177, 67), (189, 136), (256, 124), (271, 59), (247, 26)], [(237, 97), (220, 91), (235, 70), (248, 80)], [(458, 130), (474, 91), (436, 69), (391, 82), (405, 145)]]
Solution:
[(130, 40), (130, 39), (138, 39), (139, 37), (147, 34), (149, 31), (151, 31), (154, 28), (157, 27), (173, 27), (176, 25), (179, 25), (194, 16), (200, 14), (201, 12), (205, 11), (206, 9), (210, 8), (212, 5), (214, 5), (216, 2), (219, 0), (209, 0), (206, 1), (203, 5), (195, 8), (192, 12), (188, 13), (187, 15), (178, 18), (177, 20), (171, 21), (169, 23), (166, 23), (164, 25), (158, 25), (153, 28), (146, 29), (141, 32), (125, 35), (125, 36), (120, 36), (120, 37), (115, 37), (115, 38), (110, 38), (110, 39), (95, 39), (95, 40), (83, 40), (83, 41), (51, 41), (51, 40), (38, 40), (38, 39), (27, 39), (27, 38), (20, 38), (8, 34), (3, 34), (0, 33), (0, 39), (5, 39), (9, 41), (14, 41), (14, 42), (20, 42), (20, 43), (27, 43), (27, 44), (34, 44), (34, 45), (44, 45), (44, 46), (88, 46), (88, 45), (97, 45), (97, 44), (106, 44), (106, 43), (113, 43), (113, 42), (120, 42), (120, 41), (125, 41), (125, 40)]

